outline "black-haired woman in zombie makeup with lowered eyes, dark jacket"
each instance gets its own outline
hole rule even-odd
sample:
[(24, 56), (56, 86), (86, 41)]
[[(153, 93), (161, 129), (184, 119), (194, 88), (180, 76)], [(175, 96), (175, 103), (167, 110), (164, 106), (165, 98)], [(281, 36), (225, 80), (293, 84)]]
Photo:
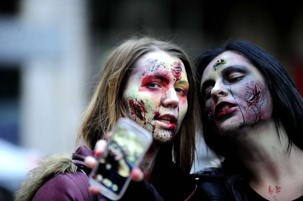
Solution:
[(303, 100), (291, 76), (244, 41), (195, 61), (204, 139), (223, 161), (196, 174), (199, 198), (303, 200)]

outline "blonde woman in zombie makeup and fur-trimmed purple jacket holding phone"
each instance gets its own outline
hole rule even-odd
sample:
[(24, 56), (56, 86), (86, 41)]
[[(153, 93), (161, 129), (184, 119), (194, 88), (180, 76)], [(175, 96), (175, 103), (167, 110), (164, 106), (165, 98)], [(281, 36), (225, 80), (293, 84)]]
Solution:
[[(155, 189), (163, 199), (188, 199), (196, 189), (194, 183), (186, 182), (199, 125), (195, 92), (194, 68), (180, 47), (149, 37), (122, 42), (108, 56), (84, 113), (77, 137), (84, 146), (71, 157), (53, 155), (42, 159), (20, 186), (16, 200), (106, 200), (103, 195), (94, 196), (88, 191), (87, 175), (91, 169), (84, 159), (100, 155), (94, 151), (96, 142), (105, 140), (122, 117), (137, 122), (153, 136), (139, 165), (145, 180), (132, 182), (124, 199), (141, 200), (129, 193), (131, 190), (145, 193), (145, 200), (162, 199), (153, 192)], [(141, 180), (142, 172), (134, 171), (132, 174)]]

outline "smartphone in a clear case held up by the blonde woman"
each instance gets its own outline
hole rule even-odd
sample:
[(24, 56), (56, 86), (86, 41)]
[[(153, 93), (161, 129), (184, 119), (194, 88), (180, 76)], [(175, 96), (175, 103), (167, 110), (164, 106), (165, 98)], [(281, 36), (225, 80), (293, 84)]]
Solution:
[(115, 125), (104, 153), (89, 175), (91, 186), (111, 200), (120, 199), (137, 167), (152, 143), (152, 135), (137, 123), (121, 118)]

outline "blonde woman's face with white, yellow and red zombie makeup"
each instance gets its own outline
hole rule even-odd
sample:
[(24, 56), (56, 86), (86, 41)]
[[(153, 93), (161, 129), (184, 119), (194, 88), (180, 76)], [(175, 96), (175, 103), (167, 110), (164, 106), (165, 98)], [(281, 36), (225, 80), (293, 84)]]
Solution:
[(184, 64), (165, 52), (152, 52), (135, 66), (123, 96), (129, 116), (155, 141), (171, 141), (187, 111), (189, 85)]

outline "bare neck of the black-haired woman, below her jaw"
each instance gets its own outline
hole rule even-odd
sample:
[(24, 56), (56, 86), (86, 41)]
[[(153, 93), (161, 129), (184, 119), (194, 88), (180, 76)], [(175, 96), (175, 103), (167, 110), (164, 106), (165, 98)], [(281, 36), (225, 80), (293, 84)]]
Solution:
[(288, 136), (281, 124), (280, 128), (278, 135), (274, 121), (264, 122), (237, 135), (238, 155), (252, 183), (281, 183), (303, 175), (303, 152), (295, 144), (288, 149)]

